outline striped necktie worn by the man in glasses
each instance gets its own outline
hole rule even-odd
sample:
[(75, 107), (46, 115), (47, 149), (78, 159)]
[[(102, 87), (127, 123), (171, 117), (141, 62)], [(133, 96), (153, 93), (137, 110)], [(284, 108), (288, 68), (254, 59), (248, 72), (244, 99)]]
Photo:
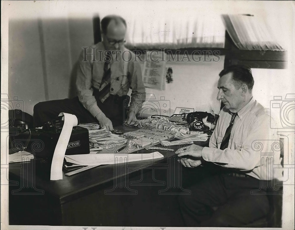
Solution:
[(106, 61), (104, 62), (104, 75), (101, 79), (101, 84), (99, 88), (99, 99), (103, 103), (110, 95), (111, 89), (111, 53), (106, 51)]

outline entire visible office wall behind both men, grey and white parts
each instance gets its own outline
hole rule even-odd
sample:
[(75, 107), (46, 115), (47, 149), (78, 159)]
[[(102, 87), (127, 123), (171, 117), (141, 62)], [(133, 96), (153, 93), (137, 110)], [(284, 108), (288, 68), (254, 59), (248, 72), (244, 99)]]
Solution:
[[(23, 110), (33, 114), (37, 102), (74, 97), (76, 61), (81, 47), (91, 43), (92, 18), (10, 20), (9, 98), (23, 100)], [(224, 57), (195, 60), (201, 61), (168, 62), (173, 82), (164, 91), (146, 88), (146, 92), (158, 100), (165, 97), (171, 113), (175, 107), (218, 113), (217, 81)], [(254, 97), (266, 107), (274, 95), (294, 92), (288, 70), (253, 69), (253, 76)], [(277, 79), (283, 80), (277, 84)]]

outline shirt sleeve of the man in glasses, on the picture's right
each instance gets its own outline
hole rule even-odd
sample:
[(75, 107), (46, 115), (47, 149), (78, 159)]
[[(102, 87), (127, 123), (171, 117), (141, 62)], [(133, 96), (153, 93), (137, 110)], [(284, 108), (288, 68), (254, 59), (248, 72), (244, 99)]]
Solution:
[(137, 113), (145, 101), (145, 86), (142, 81), (142, 71), (138, 61), (132, 61), (129, 65), (131, 101), (130, 111)]

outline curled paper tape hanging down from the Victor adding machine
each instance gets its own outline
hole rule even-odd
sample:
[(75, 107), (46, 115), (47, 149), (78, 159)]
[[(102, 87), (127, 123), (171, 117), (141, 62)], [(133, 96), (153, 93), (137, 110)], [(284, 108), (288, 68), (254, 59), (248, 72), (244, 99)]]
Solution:
[(63, 179), (63, 158), (67, 149), (73, 127), (78, 125), (75, 115), (61, 112), (58, 116), (64, 116), (63, 129), (56, 144), (50, 170), (50, 180)]

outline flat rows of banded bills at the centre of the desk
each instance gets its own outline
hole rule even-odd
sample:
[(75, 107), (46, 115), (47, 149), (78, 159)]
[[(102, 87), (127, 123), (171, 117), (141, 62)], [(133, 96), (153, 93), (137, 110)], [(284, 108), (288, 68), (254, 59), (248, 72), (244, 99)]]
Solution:
[(162, 129), (139, 129), (137, 131), (124, 133), (124, 137), (132, 139), (133, 145), (138, 148), (145, 148), (160, 143), (160, 141), (168, 141), (174, 138), (176, 132)]

